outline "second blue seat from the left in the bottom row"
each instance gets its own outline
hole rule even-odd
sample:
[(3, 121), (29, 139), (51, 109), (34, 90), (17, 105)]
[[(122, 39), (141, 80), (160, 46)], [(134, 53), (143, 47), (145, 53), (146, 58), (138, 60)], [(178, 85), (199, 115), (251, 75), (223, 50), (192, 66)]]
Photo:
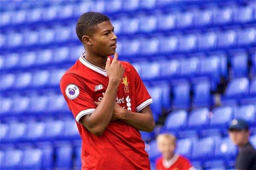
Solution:
[(41, 149), (23, 150), (23, 161), (21, 167), (26, 170), (42, 168), (43, 152)]

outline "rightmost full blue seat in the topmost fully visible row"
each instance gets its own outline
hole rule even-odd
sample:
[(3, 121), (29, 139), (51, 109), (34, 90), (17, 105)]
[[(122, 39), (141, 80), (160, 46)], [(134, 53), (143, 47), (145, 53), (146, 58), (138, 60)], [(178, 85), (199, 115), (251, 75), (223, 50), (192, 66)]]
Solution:
[[(241, 15), (242, 14), (242, 15)], [(234, 10), (234, 22), (246, 23), (253, 20), (253, 8), (250, 6), (241, 6)]]

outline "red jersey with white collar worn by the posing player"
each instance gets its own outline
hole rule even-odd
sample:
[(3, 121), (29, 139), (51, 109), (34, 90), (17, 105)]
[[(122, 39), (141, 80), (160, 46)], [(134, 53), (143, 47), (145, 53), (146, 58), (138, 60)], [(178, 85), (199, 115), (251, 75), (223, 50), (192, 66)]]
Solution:
[[(140, 112), (152, 103), (151, 96), (134, 67), (128, 62), (121, 63), (125, 73), (118, 87), (116, 102), (129, 111)], [(109, 123), (102, 136), (95, 136), (81, 124), (82, 116), (93, 114), (96, 108), (93, 101), (102, 100), (107, 86), (107, 72), (90, 64), (83, 54), (61, 78), (61, 93), (76, 119), (82, 139), (82, 170), (150, 169), (139, 130), (117, 120)]]

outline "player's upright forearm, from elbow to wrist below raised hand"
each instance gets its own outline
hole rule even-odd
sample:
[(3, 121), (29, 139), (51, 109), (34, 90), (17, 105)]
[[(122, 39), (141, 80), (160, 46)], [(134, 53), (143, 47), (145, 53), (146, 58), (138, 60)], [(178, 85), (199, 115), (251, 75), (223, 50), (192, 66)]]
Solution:
[(90, 123), (87, 125), (88, 130), (97, 136), (101, 136), (103, 134), (105, 128), (108, 126), (111, 120), (115, 105), (117, 88), (117, 83), (109, 82), (102, 101), (89, 117)]

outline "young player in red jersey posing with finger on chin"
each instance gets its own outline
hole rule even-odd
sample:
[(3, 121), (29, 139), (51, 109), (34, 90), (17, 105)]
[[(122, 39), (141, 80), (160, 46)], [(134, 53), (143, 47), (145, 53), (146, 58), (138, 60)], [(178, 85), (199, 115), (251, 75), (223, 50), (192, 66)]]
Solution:
[(82, 170), (150, 169), (139, 130), (154, 130), (152, 99), (134, 67), (118, 60), (110, 19), (84, 13), (76, 34), (85, 51), (60, 87), (82, 139)]

